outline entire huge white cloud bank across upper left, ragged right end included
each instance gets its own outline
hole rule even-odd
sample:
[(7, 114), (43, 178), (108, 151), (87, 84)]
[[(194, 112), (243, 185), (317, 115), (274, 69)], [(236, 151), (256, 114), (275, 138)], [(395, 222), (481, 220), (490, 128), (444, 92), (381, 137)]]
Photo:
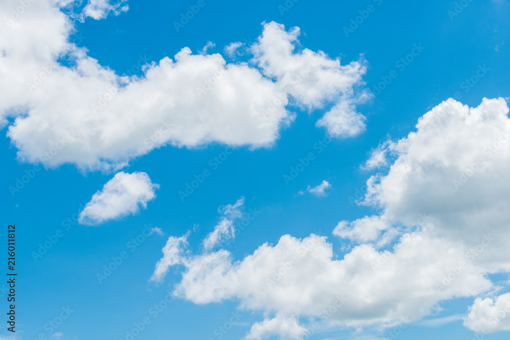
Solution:
[[(73, 24), (62, 2), (31, 2), (11, 18), (17, 6), (0, 4), (7, 20), (0, 28), (0, 116), (3, 124), (15, 118), (8, 136), (21, 160), (115, 170), (168, 144), (265, 147), (293, 120), (289, 104), (312, 110), (333, 103), (319, 125), (335, 136), (364, 128), (355, 112), (367, 97), (360, 89), (364, 63), (295, 51), (299, 29), (264, 24), (257, 43), (246, 47), (251, 64), (183, 47), (173, 59), (144, 65), (141, 76), (122, 76), (69, 41)], [(122, 10), (123, 3), (91, 0), (84, 13), (98, 19)]]

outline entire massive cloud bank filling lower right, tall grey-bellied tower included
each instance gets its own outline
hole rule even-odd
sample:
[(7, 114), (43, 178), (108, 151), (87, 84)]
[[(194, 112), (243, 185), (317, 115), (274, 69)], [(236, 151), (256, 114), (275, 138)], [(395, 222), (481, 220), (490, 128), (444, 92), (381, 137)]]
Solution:
[(474, 299), (466, 327), (508, 330), (508, 294), (481, 298), (502, 289), (489, 274), (510, 266), (508, 128), (503, 99), (476, 108), (444, 101), (415, 132), (376, 150), (367, 168), (391, 166), (367, 180), (361, 203), (380, 214), (336, 226), (334, 235), (351, 242), (347, 253), (316, 234), (285, 235), (238, 260), (225, 249), (185, 254), (183, 246), (174, 294), (196, 304), (234, 299), (261, 312), (248, 339), (391, 327), (458, 297)]

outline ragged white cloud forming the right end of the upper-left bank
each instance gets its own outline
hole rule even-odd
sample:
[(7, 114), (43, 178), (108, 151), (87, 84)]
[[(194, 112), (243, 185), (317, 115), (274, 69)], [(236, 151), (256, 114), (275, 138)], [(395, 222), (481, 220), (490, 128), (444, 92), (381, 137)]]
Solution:
[(252, 46), (254, 60), (264, 75), (277, 80), (280, 90), (289, 93), (300, 106), (323, 108), (325, 102), (336, 103), (317, 122), (335, 137), (351, 137), (363, 132), (365, 117), (355, 105), (366, 101), (370, 94), (359, 88), (366, 72), (363, 59), (341, 65), (323, 51), (304, 48), (295, 53), (299, 28), (286, 32), (282, 24), (264, 24), (264, 32)]

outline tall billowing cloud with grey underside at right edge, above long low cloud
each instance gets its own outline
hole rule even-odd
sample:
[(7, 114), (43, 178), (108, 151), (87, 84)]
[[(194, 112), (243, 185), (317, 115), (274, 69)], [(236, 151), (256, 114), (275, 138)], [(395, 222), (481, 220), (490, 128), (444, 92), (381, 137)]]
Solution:
[(367, 181), (362, 204), (380, 208), (392, 225), (419, 225), (471, 247), (489, 235), (495, 240), (476, 261), (488, 271), (510, 270), (507, 114), (502, 98), (484, 98), (477, 108), (442, 102), (419, 119), (416, 132), (395, 143), (396, 160), (386, 175)]

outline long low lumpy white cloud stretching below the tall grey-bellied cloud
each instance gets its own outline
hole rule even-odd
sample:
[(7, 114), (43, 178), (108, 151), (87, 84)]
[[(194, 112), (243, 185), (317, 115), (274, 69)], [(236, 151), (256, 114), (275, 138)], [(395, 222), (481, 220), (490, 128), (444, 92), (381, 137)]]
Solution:
[[(468, 263), (463, 275), (438, 289), (443, 275), (465, 259), (465, 250), (461, 244), (413, 232), (392, 252), (360, 245), (337, 260), (325, 237), (285, 235), (240, 261), (223, 249), (174, 260), (185, 266), (174, 294), (196, 304), (236, 299), (244, 309), (264, 312), (265, 320), (247, 336), (253, 339), (284, 337), (285, 332), (294, 336), (306, 326), (299, 318), (326, 326), (394, 326), (402, 317), (418, 320), (444, 299), (492, 287), (482, 270)], [(330, 306), (337, 307), (325, 313)]]

